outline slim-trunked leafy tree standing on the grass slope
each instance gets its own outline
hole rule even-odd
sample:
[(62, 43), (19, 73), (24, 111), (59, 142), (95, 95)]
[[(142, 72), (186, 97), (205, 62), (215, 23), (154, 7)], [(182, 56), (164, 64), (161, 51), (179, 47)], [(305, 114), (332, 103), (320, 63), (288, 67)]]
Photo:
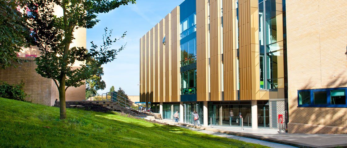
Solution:
[[(28, 4), (30, 10), (29, 27), (35, 45), (41, 50), (37, 57), (36, 71), (42, 77), (54, 81), (59, 91), (60, 119), (66, 118), (65, 92), (69, 87), (79, 87), (100, 70), (101, 65), (116, 58), (118, 50), (110, 49), (112, 43), (124, 38), (110, 39), (112, 30), (105, 29), (103, 45), (92, 43), (90, 50), (85, 47), (70, 47), (74, 31), (79, 27), (92, 28), (97, 22), (96, 14), (106, 13), (121, 5), (135, 3), (135, 0), (36, 0)], [(62, 9), (62, 16), (54, 15), (54, 7)], [(73, 68), (75, 61), (85, 61), (80, 68)]]

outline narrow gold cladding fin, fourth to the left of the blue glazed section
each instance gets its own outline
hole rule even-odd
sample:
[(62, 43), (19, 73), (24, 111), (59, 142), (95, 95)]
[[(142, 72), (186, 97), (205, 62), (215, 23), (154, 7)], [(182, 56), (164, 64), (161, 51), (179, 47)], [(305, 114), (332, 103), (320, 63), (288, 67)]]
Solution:
[(154, 26), (154, 97), (153, 102), (159, 102), (159, 23)]

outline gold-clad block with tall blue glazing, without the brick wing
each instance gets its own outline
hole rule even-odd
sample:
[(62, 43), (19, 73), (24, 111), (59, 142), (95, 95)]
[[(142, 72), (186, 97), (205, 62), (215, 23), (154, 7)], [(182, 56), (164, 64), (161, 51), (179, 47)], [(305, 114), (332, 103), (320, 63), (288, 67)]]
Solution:
[[(287, 108), (285, 3), (185, 0), (140, 39), (140, 101), (180, 122), (278, 128)], [(232, 115), (232, 116), (230, 116)], [(240, 115), (240, 116), (239, 116)]]

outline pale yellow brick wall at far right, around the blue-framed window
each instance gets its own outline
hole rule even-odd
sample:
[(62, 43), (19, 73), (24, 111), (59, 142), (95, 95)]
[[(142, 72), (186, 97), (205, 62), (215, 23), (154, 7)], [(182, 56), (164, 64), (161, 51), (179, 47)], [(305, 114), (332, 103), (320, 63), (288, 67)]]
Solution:
[(346, 0), (286, 1), (288, 132), (347, 134), (347, 108), (297, 107), (297, 90), (347, 87), (346, 12)]

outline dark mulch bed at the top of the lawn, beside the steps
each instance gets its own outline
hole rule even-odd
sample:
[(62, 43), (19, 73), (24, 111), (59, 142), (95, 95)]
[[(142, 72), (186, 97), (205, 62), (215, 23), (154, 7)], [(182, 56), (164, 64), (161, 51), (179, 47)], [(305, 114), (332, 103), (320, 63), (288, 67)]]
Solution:
[[(76, 107), (74, 105), (82, 105), (82, 106)], [(54, 104), (54, 107), (60, 107), (59, 102), (56, 102)], [(83, 110), (105, 112), (105, 113), (110, 112), (110, 111), (117, 111), (117, 110), (108, 109), (106, 107), (102, 107), (101, 105), (98, 105), (98, 104), (93, 104), (93, 103), (89, 103), (89, 102), (78, 102), (78, 101), (66, 101), (66, 108), (78, 108), (78, 109), (83, 109)]]

